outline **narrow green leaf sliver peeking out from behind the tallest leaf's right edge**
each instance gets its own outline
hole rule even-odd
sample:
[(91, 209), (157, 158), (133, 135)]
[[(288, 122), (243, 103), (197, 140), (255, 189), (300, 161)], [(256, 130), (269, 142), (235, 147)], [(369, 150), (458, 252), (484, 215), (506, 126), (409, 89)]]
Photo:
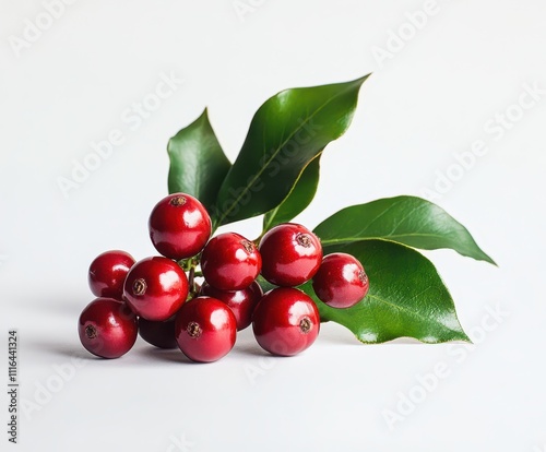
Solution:
[(299, 179), (284, 201), (263, 217), (263, 230), (287, 223), (301, 213), (314, 198), (319, 185), (320, 155), (301, 171)]

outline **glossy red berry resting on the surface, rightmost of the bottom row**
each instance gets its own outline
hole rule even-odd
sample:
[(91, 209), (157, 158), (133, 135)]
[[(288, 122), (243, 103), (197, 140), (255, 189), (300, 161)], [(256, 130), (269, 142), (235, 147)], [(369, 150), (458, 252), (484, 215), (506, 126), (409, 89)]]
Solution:
[(268, 292), (256, 307), (252, 330), (264, 350), (294, 356), (310, 347), (319, 335), (319, 310), (301, 290), (278, 287)]

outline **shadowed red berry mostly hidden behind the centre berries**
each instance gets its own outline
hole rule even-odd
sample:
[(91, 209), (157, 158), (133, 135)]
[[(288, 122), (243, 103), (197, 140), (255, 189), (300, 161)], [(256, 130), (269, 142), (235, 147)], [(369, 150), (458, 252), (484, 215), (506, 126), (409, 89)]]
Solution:
[(245, 330), (252, 322), (252, 312), (262, 298), (263, 290), (254, 281), (250, 286), (239, 290), (221, 290), (204, 283), (201, 295), (207, 295), (225, 302), (237, 320), (237, 331)]

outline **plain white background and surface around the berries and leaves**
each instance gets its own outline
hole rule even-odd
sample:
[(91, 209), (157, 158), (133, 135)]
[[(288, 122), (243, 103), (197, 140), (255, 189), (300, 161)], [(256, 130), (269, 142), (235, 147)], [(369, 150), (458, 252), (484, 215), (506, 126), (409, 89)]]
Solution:
[[(418, 31), (408, 19), (424, 8), (417, 0), (80, 0), (51, 23), (40, 1), (0, 4), (0, 380), (15, 328), (13, 449), (546, 450), (546, 3), (438, 1)], [(33, 41), (22, 47), (37, 21), (47, 29), (27, 31)], [(268, 359), (248, 330), (211, 365), (141, 340), (120, 359), (92, 358), (76, 335), (93, 298), (88, 263), (112, 248), (154, 253), (146, 221), (167, 193), (168, 139), (207, 106), (234, 159), (271, 95), (368, 72), (353, 124), (327, 148), (319, 192), (298, 221), (313, 227), (343, 206), (460, 177), (436, 202), (499, 267), (452, 251), (427, 255), (476, 345), (365, 346), (327, 324), (287, 359)], [(140, 123), (123, 119), (162, 73), (183, 83)], [(534, 85), (543, 88), (534, 105), (524, 95), (529, 108), (517, 107)], [(487, 131), (507, 109), (513, 120)], [(123, 143), (64, 197), (58, 178), (71, 178), (91, 142), (116, 129)], [(488, 152), (460, 171), (454, 153), (476, 140)], [(252, 236), (258, 225), (230, 228)], [(429, 376), (423, 390), (438, 364), (449, 374), (435, 384)], [(410, 396), (418, 403), (404, 406)], [(385, 411), (399, 409), (390, 428)]]

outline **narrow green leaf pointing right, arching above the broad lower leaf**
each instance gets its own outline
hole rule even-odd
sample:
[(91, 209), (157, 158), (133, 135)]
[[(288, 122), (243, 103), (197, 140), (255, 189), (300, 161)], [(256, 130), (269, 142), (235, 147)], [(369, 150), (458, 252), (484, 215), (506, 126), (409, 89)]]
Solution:
[(463, 225), (438, 205), (415, 197), (385, 198), (343, 209), (313, 231), (324, 247), (384, 239), (424, 250), (451, 248), (495, 264)]

